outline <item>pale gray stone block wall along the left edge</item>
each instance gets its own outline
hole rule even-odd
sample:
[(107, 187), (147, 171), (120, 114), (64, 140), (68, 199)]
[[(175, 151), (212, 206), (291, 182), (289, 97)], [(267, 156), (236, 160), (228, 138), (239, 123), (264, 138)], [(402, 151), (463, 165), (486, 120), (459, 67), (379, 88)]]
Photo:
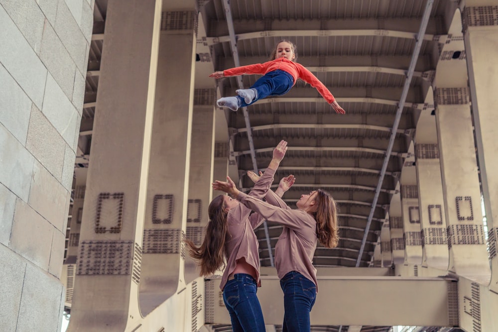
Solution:
[(94, 0), (0, 0), (0, 331), (60, 331)]

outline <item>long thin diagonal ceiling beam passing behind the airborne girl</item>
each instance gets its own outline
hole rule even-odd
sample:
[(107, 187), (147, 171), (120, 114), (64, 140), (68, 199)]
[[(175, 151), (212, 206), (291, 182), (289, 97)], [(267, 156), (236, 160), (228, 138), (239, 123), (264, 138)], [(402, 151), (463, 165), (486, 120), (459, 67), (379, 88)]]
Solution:
[[(234, 57), (235, 66), (240, 67), (241, 61), (239, 59), (239, 53), (237, 51), (237, 37), (235, 35), (234, 21), (232, 18), (232, 10), (230, 9), (230, 0), (224, 0), (223, 7), (225, 8), (225, 15), (227, 16), (230, 48), (232, 50), (232, 55)], [(242, 77), (241, 76), (237, 76), (237, 84), (239, 86), (239, 89), (244, 89), (244, 85), (242, 84)], [(254, 141), (252, 139), (252, 129), (250, 127), (249, 113), (248, 113), (247, 107), (243, 107), (242, 111), (244, 112), (244, 120), (246, 121), (246, 128), (247, 128), (247, 134), (248, 134), (248, 139), (249, 139), (249, 150), (250, 150), (250, 156), (252, 159), (252, 168), (253, 168), (254, 173), (257, 174), (258, 168), (257, 168), (257, 163), (256, 163), (256, 153), (254, 151)], [(267, 225), (266, 221), (263, 221), (263, 228), (264, 228), (264, 234), (266, 236), (266, 244), (268, 246), (270, 265), (274, 266), (273, 253), (271, 252), (271, 242), (270, 242), (270, 237), (268, 234), (268, 225)]]

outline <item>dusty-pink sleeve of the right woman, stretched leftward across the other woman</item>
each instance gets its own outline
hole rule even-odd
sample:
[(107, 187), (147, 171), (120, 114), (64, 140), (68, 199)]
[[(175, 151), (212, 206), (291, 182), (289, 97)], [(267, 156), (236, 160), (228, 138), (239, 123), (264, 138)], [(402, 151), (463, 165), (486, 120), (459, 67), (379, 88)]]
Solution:
[(316, 221), (302, 210), (275, 207), (244, 193), (240, 193), (237, 199), (267, 221), (273, 221), (296, 230), (300, 230), (304, 226), (316, 227)]

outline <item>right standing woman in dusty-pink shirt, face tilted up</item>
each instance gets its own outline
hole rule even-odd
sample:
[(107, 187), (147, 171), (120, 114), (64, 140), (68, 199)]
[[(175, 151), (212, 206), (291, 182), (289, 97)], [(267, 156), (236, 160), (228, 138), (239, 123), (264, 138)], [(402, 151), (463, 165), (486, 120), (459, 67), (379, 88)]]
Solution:
[(213, 188), (229, 193), (267, 221), (283, 226), (275, 245), (275, 267), (284, 293), (282, 331), (309, 332), (310, 312), (318, 292), (313, 266), (317, 241), (333, 248), (339, 240), (334, 199), (326, 191), (314, 190), (301, 195), (293, 210), (271, 190), (266, 193), (266, 202), (241, 193), (230, 178), (227, 182), (215, 181)]

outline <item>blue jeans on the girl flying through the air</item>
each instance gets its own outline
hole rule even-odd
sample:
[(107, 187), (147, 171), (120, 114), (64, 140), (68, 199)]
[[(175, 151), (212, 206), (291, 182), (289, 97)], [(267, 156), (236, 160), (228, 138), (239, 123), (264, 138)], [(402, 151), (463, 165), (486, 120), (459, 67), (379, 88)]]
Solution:
[(257, 98), (251, 103), (247, 104), (244, 98), (237, 96), (241, 102), (242, 106), (245, 107), (254, 104), (256, 101), (266, 98), (268, 96), (282, 96), (285, 95), (294, 86), (294, 78), (292, 75), (284, 70), (274, 70), (269, 73), (264, 74), (260, 77), (254, 84), (249, 88), (256, 89)]

